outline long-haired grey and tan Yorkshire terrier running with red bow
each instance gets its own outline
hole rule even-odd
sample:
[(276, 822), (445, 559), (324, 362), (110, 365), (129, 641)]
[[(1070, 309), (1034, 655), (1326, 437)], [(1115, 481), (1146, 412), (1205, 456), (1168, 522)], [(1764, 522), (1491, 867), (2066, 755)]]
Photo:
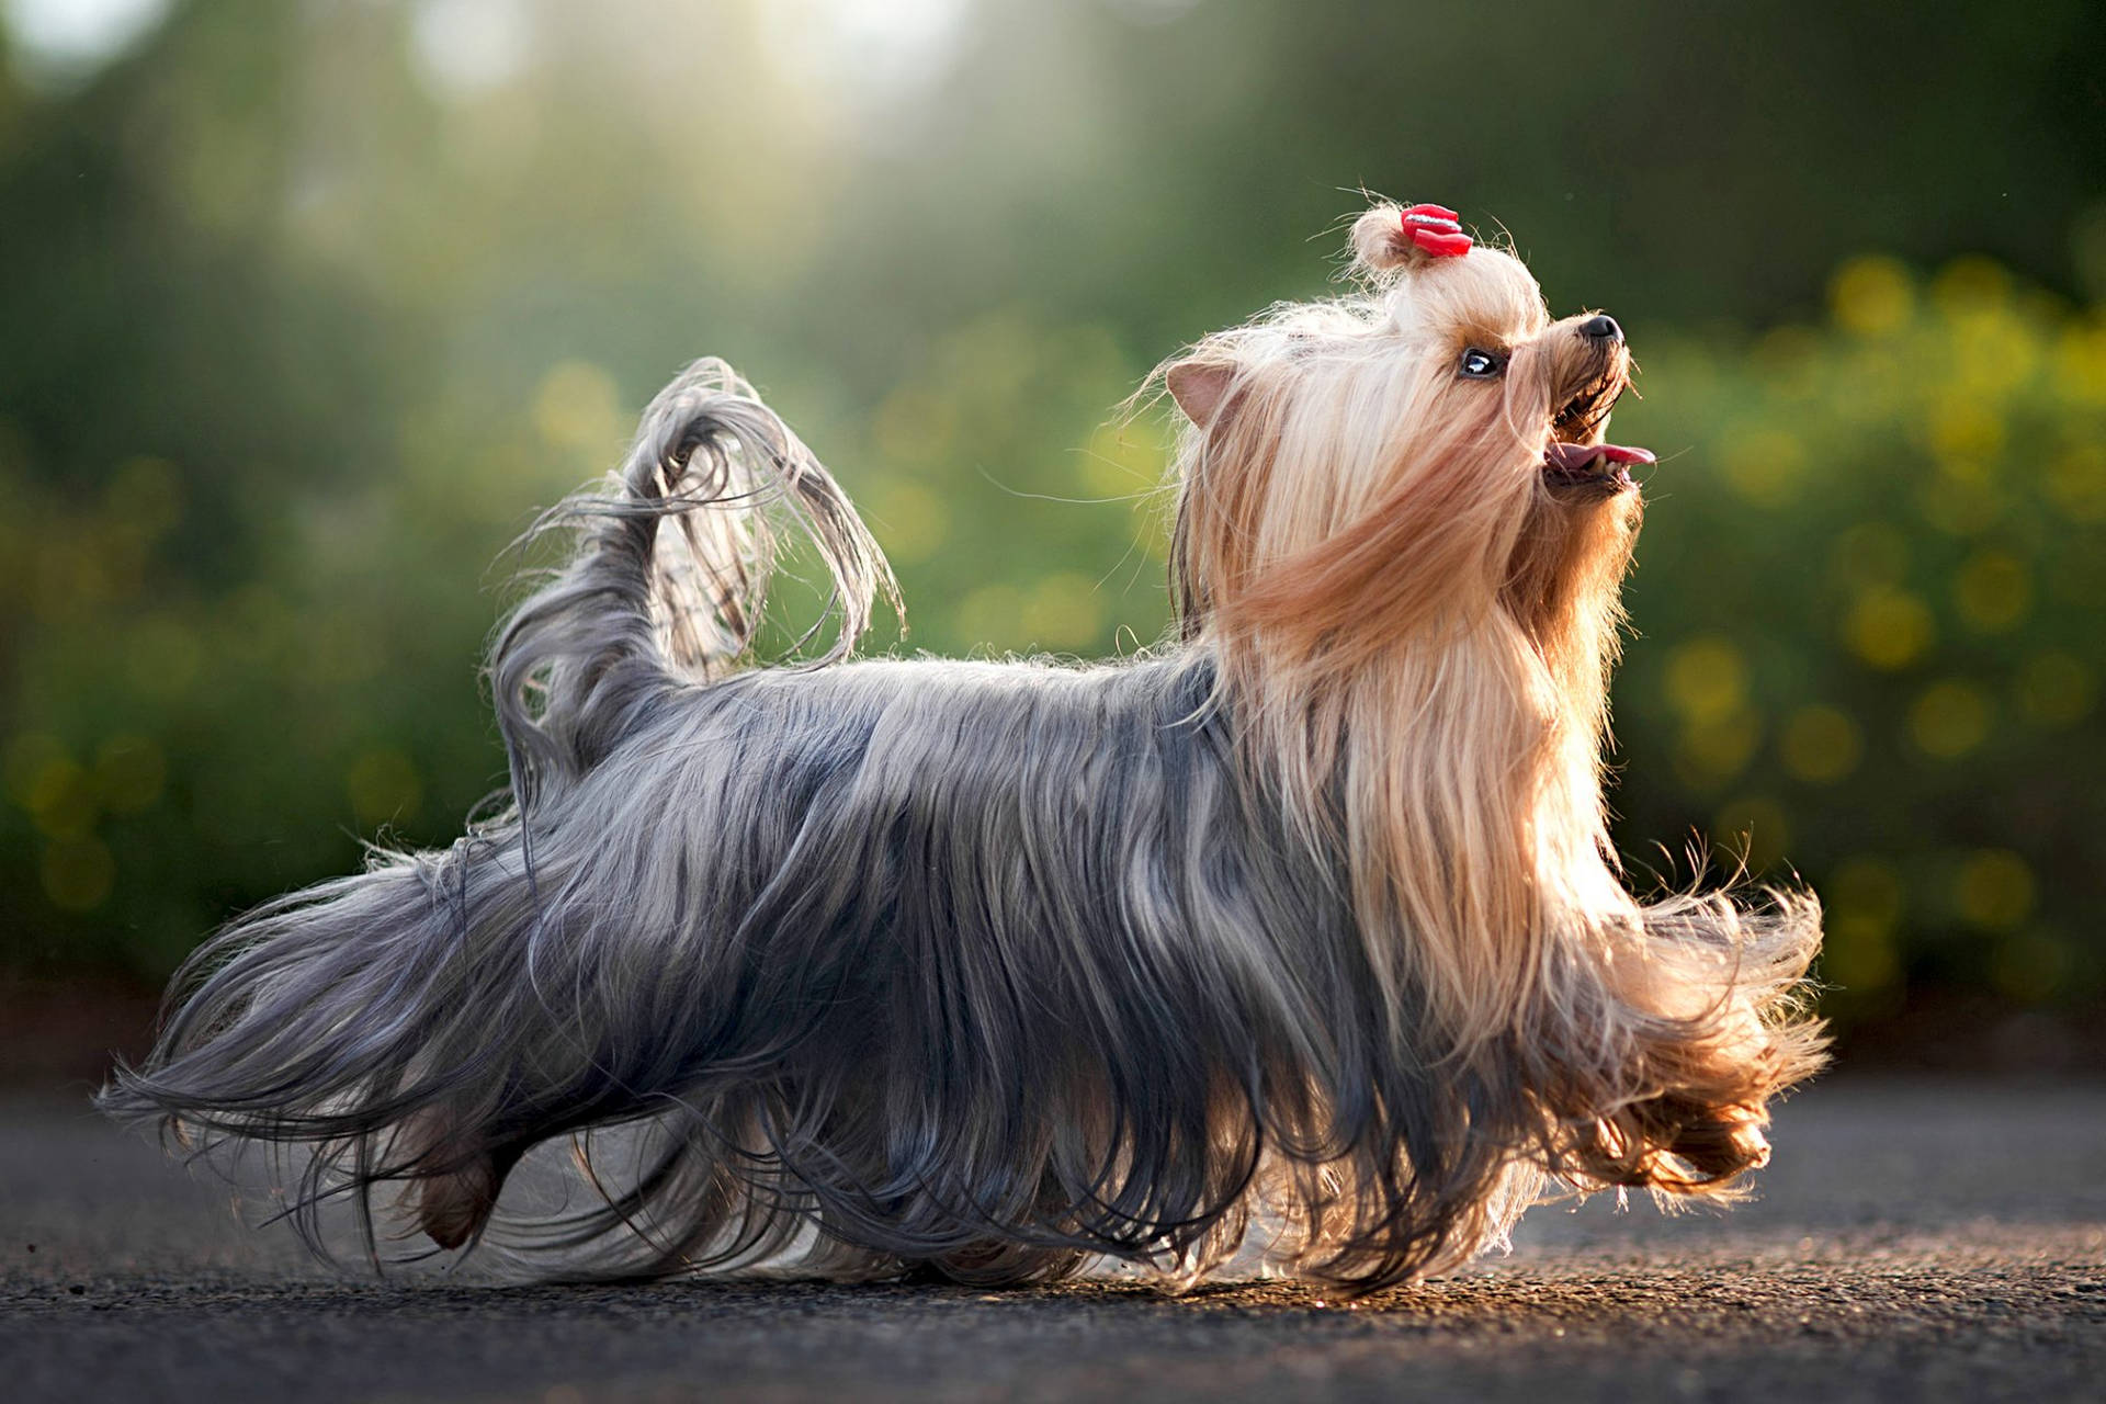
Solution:
[[(1729, 1196), (1822, 1059), (1820, 911), (1643, 903), (1609, 846), (1624, 335), (1438, 206), (1352, 246), (1158, 373), (1177, 629), (1116, 663), (851, 661), (876, 541), (691, 366), (539, 528), (503, 810), (240, 918), (103, 1107), (297, 1147), (318, 1246), (343, 1196), (379, 1263), (379, 1198), (567, 1278), (1184, 1284), (1249, 1240), (1352, 1292), (1550, 1189)], [(838, 638), (748, 667), (786, 526)], [(558, 1137), (571, 1202), (495, 1212)]]

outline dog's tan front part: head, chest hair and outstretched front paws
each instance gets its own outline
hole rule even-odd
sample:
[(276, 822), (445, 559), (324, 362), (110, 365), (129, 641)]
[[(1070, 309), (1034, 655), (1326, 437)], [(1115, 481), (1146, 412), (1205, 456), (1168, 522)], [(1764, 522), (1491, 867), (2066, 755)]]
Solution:
[(1552, 318), (1521, 259), (1438, 206), (1379, 204), (1352, 246), (1346, 297), (1163, 370), (1190, 421), (1186, 638), (1253, 796), (1342, 859), (1396, 1027), (1531, 1061), (1558, 1172), (1716, 1189), (1817, 1063), (1786, 1010), (1817, 926), (1792, 899), (1643, 907), (1615, 867), (1607, 671), (1651, 463), (1607, 440), (1624, 333)]

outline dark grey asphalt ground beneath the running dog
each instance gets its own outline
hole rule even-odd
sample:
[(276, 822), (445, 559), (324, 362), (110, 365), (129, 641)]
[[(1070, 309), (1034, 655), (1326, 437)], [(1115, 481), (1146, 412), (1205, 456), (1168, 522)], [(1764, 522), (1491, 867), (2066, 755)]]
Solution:
[(1510, 1257), (1352, 1305), (575, 1288), (318, 1269), (84, 1099), (17, 1099), (0, 1398), (2106, 1400), (2106, 1088), (1843, 1078), (1773, 1141), (1754, 1204), (1537, 1208)]

